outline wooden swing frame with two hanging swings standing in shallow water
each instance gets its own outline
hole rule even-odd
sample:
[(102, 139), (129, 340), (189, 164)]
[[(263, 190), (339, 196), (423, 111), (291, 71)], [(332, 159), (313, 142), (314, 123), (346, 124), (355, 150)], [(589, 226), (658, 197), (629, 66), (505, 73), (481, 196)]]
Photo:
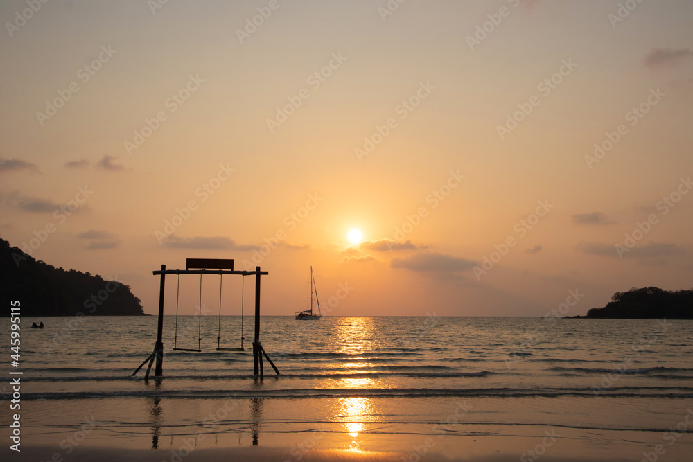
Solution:
[[(193, 268), (193, 269), (191, 269)], [(267, 355), (267, 352), (265, 352), (265, 348), (263, 348), (262, 344), (260, 343), (260, 278), (261, 276), (267, 276), (269, 272), (266, 271), (261, 271), (260, 267), (256, 266), (255, 271), (234, 271), (234, 260), (226, 260), (226, 259), (218, 259), (218, 258), (187, 258), (186, 259), (186, 269), (166, 269), (166, 265), (161, 265), (161, 270), (157, 270), (152, 272), (155, 276), (161, 276), (161, 284), (159, 286), (159, 322), (157, 324), (157, 342), (154, 345), (154, 351), (149, 355), (147, 359), (144, 360), (140, 366), (135, 369), (135, 371), (132, 373), (132, 375), (136, 375), (141, 368), (147, 362), (149, 362), (149, 366), (147, 367), (147, 372), (145, 374), (145, 380), (148, 379), (150, 370), (152, 368), (152, 363), (156, 359), (157, 365), (155, 368), (155, 377), (159, 377), (164, 374), (164, 368), (163, 368), (163, 363), (164, 363), (164, 341), (163, 341), (163, 332), (164, 332), (164, 287), (166, 284), (166, 275), (168, 274), (176, 274), (178, 276), (178, 280), (180, 281), (180, 275), (181, 274), (200, 274), (200, 301), (202, 300), (202, 275), (204, 274), (219, 274), (220, 276), (224, 274), (236, 274), (240, 276), (255, 276), (255, 337), (253, 340), (253, 359), (254, 359), (254, 367), (253, 367), (253, 373), (254, 375), (260, 375), (260, 378), (262, 380), (264, 371), (263, 371), (263, 356), (267, 359), (267, 362), (270, 363), (270, 366), (274, 369), (274, 372), (279, 375), (279, 369), (277, 369), (277, 366), (274, 366), (274, 363), (272, 362), (272, 359)], [(178, 286), (179, 287), (179, 286)], [(221, 297), (221, 287), (220, 287), (220, 297)], [(221, 298), (220, 298), (221, 302)], [(243, 305), (241, 306), (241, 310), (243, 310)], [(176, 303), (176, 312), (177, 312), (177, 303)], [(220, 313), (221, 313), (221, 305), (220, 305)], [(202, 310), (200, 310), (200, 317), (202, 315)], [(201, 318), (200, 318), (201, 319)], [(221, 321), (220, 321), (221, 322)], [(176, 318), (176, 323), (177, 323), (177, 318)], [(200, 322), (198, 321), (198, 342), (200, 342)], [(220, 336), (219, 336), (220, 337)], [(243, 341), (243, 333), (241, 333), (241, 341)], [(219, 346), (220, 339), (218, 338), (218, 347), (217, 350), (219, 351), (238, 351), (238, 349), (234, 350), (229, 350), (229, 349), (220, 349), (221, 347)], [(198, 343), (199, 345), (199, 343)], [(179, 348), (179, 350), (184, 350), (182, 348)], [(192, 349), (185, 349), (187, 351), (195, 351), (199, 352), (200, 349), (198, 350), (192, 350)]]

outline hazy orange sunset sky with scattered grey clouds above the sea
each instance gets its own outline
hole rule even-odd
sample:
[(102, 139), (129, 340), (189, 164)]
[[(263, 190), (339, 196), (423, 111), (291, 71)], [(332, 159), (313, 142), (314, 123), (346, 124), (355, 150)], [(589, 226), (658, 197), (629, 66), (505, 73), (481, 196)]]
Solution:
[[(331, 316), (691, 288), (690, 1), (12, 0), (0, 19), (0, 236), (147, 313), (152, 270), (186, 258), (268, 271), (271, 315), (306, 308), (310, 265)], [(240, 313), (245, 278), (222, 281)], [(219, 284), (200, 299), (182, 276), (180, 312), (218, 312)]]

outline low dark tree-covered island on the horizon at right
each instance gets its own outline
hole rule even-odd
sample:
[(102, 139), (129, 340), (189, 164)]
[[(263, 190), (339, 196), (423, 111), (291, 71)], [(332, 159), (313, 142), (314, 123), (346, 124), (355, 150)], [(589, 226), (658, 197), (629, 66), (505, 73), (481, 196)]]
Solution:
[(604, 308), (592, 308), (587, 316), (569, 318), (693, 319), (693, 290), (671, 292), (643, 287), (616, 292)]

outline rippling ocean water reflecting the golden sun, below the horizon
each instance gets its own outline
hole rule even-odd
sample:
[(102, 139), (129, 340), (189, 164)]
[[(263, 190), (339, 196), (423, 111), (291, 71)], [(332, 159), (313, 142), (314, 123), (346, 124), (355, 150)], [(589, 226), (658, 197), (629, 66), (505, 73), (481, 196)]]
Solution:
[[(252, 374), (253, 318), (243, 324), (245, 351), (218, 352), (240, 346), (240, 317), (166, 316), (164, 376), (145, 380), (131, 374), (157, 317), (21, 319), (23, 443), (164, 448), (172, 460), (182, 447), (281, 446), (298, 461), (321, 445), (432, 437), (450, 455), (465, 438), (599, 434), (626, 446), (636, 435), (647, 450), (693, 418), (693, 321), (267, 316), (261, 342), (281, 375), (265, 361), (264, 380)], [(198, 332), (201, 353), (173, 350), (197, 348)], [(692, 433), (680, 429), (676, 454), (693, 454)]]

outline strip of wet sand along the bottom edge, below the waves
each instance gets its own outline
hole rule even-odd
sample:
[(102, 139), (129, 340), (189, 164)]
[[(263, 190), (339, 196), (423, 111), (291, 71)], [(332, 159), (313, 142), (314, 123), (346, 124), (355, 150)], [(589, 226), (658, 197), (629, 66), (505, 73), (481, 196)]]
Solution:
[[(478, 429), (480, 432), (482, 429)], [(488, 430), (488, 429), (486, 429)], [(518, 436), (432, 436), (378, 434), (362, 435), (358, 447), (353, 447), (349, 434), (335, 433), (322, 436), (319, 441), (304, 434), (300, 443), (291, 446), (234, 447), (230, 439), (217, 440), (218, 447), (195, 447), (188, 438), (172, 438), (166, 447), (145, 449), (149, 438), (90, 438), (89, 444), (78, 445), (66, 454), (64, 449), (52, 446), (24, 446), (21, 453), (4, 447), (0, 452), (9, 461), (146, 461), (146, 462), (202, 462), (202, 461), (635, 461), (645, 459), (643, 452), (652, 452), (661, 443), (656, 432), (623, 432), (570, 429), (561, 430), (561, 436), (552, 441), (545, 436), (550, 429), (541, 427), (515, 429), (505, 427), (505, 434)], [(265, 441), (281, 443), (283, 438), (264, 434)], [(296, 438), (293, 438), (294, 440)], [(211, 443), (210, 438), (208, 443)], [(163, 443), (163, 442), (162, 442)], [(128, 447), (132, 449), (128, 449)], [(189, 447), (193, 447), (192, 450)], [(139, 448), (139, 449), (138, 449)], [(529, 453), (529, 450), (534, 452)], [(676, 444), (665, 445), (665, 452), (657, 456), (660, 462), (693, 459), (691, 434), (684, 434)]]

